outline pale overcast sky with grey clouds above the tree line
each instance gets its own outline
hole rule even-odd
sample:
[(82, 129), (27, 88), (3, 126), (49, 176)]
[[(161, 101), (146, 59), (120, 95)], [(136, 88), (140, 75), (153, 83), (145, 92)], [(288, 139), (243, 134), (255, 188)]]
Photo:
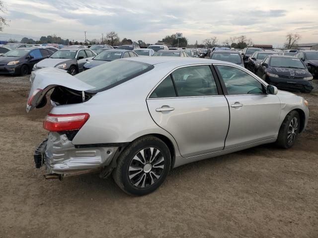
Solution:
[(101, 38), (155, 43), (182, 32), (190, 44), (217, 36), (246, 35), (255, 44), (282, 45), (287, 32), (318, 42), (318, 0), (3, 0), (9, 27), (3, 33), (57, 34), (64, 39)]

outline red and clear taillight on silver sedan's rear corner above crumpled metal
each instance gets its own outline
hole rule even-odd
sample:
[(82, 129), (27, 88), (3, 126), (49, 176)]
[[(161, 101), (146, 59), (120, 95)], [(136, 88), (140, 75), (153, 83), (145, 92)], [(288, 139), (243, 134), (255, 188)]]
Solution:
[(49, 131), (79, 130), (88, 118), (88, 113), (49, 114), (43, 122), (43, 128)]

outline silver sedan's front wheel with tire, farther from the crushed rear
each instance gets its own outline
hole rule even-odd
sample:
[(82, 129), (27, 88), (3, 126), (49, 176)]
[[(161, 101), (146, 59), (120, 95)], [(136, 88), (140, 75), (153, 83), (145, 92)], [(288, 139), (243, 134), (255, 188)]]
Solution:
[(300, 117), (297, 111), (287, 114), (280, 126), (276, 144), (282, 148), (292, 147), (297, 139), (300, 128)]

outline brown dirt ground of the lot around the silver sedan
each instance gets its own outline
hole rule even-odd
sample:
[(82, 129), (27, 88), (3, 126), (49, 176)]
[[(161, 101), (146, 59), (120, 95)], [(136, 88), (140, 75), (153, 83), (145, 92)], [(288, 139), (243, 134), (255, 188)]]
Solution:
[(45, 180), (33, 151), (50, 108), (26, 114), (28, 77), (0, 76), (0, 238), (318, 238), (317, 81), (293, 148), (188, 164), (132, 197), (97, 175)]

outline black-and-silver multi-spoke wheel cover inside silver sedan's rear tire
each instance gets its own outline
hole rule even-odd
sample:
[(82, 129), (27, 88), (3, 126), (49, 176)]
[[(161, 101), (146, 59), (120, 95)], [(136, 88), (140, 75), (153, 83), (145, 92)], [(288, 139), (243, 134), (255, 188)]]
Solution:
[(128, 168), (130, 182), (136, 187), (149, 187), (160, 178), (165, 160), (157, 148), (145, 148), (132, 159)]

